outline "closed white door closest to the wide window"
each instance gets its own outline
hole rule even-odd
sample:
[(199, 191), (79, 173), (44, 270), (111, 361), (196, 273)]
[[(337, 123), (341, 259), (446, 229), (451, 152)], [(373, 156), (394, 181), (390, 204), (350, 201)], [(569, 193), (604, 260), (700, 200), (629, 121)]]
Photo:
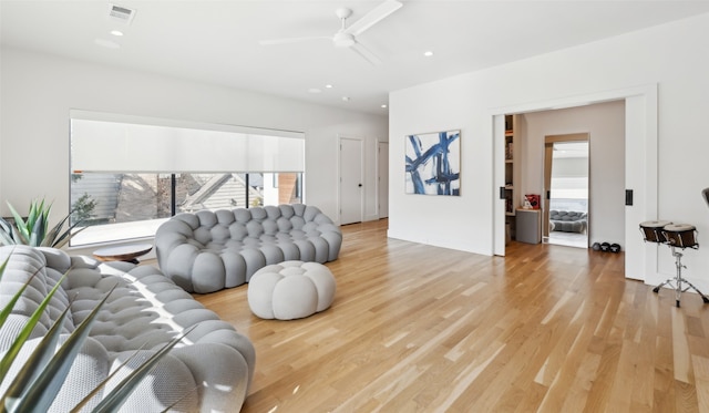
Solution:
[(364, 192), (362, 141), (340, 138), (340, 225), (362, 221)]

